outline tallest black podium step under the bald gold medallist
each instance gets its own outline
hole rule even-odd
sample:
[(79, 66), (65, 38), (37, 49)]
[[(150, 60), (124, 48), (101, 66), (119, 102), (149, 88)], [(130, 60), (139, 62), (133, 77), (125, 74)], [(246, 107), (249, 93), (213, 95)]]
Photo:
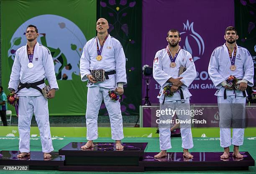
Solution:
[(115, 143), (94, 143), (93, 148), (81, 149), (84, 142), (72, 142), (59, 149), (65, 156), (61, 171), (144, 171), (139, 166), (148, 143), (123, 143), (122, 150)]

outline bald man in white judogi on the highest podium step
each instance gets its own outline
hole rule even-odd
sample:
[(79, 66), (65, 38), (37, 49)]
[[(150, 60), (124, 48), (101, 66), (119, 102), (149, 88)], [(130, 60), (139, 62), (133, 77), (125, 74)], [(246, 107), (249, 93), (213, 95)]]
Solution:
[[(102, 99), (110, 117), (112, 139), (115, 148), (122, 150), (123, 120), (120, 102), (111, 100), (108, 91), (115, 90), (123, 94), (123, 85), (127, 83), (125, 54), (120, 42), (108, 34), (108, 21), (100, 18), (96, 23), (97, 37), (90, 39), (84, 46), (80, 60), (82, 81), (88, 80), (86, 126), (87, 143), (82, 149), (92, 148), (93, 140), (98, 138), (97, 117)], [(97, 73), (95, 73), (97, 72)], [(96, 77), (97, 76), (97, 77)], [(95, 80), (95, 78), (99, 78)]]

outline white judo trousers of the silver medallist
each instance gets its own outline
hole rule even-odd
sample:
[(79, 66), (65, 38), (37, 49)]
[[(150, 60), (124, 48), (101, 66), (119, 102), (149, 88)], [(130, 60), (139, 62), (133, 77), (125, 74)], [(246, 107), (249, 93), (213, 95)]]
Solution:
[(19, 97), (19, 151), (21, 153), (30, 151), (30, 125), (33, 113), (40, 132), (42, 151), (49, 153), (54, 148), (51, 141), (48, 101), (42, 95), (38, 97)]

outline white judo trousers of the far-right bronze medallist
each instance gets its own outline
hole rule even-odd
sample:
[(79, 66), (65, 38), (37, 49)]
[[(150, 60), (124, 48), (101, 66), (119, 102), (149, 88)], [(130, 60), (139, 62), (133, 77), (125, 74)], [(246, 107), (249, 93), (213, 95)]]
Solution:
[(232, 144), (243, 145), (245, 128), (246, 97), (242, 96), (218, 96), (218, 107), (220, 113), (220, 146), (225, 148), (231, 146), (230, 125), (232, 120), (233, 136)]

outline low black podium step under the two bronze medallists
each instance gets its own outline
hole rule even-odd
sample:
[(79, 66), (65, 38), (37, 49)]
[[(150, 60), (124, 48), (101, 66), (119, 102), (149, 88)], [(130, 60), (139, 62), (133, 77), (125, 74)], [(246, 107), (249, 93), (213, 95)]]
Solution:
[(232, 156), (220, 159), (223, 152), (192, 152), (192, 159), (183, 157), (182, 152), (167, 153), (166, 157), (155, 159), (155, 152), (145, 153), (140, 166), (145, 171), (200, 171), (200, 170), (248, 170), (254, 166), (254, 159), (248, 152), (240, 152), (244, 157), (238, 159)]

